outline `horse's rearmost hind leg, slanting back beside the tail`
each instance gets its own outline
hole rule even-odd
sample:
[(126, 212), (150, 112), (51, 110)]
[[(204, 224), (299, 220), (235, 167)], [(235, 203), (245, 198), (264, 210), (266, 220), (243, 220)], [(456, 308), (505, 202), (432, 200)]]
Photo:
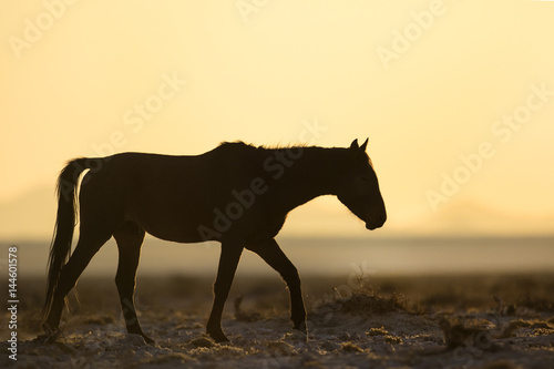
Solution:
[(79, 236), (75, 249), (71, 254), (69, 262), (61, 268), (58, 286), (54, 290), (52, 306), (44, 320), (44, 329), (47, 332), (58, 329), (62, 316), (63, 307), (65, 306), (65, 296), (75, 286), (79, 277), (84, 268), (89, 265), (92, 257), (98, 250), (110, 239), (111, 235), (101, 232), (83, 232)]

